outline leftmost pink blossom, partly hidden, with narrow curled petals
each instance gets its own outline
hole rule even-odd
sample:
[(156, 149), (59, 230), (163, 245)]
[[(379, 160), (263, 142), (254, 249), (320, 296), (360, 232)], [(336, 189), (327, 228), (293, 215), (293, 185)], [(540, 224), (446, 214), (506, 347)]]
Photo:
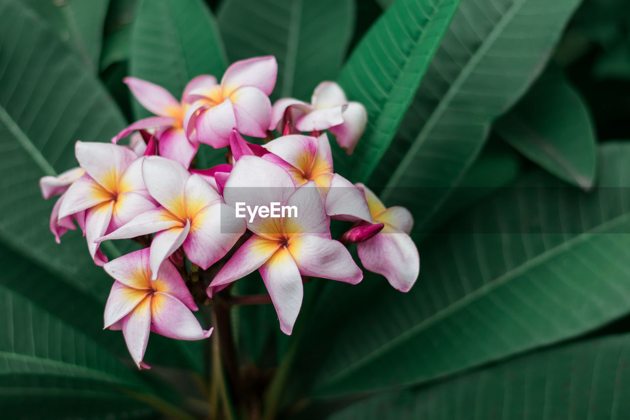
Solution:
[[(55, 235), (55, 242), (61, 243), (61, 236), (68, 230), (75, 230), (73, 216), (66, 216), (65, 218), (59, 218), (59, 209), (61, 202), (65, 197), (67, 189), (77, 179), (81, 178), (85, 170), (83, 168), (72, 168), (66, 172), (60, 173), (56, 177), (47, 176), (40, 179), (40, 189), (44, 199), (49, 199), (54, 195), (61, 194), (61, 197), (57, 199), (55, 205), (52, 207), (52, 213), (50, 214), (50, 231)], [(83, 223), (84, 214), (77, 215), (78, 219), (81, 219), (79, 223)]]

